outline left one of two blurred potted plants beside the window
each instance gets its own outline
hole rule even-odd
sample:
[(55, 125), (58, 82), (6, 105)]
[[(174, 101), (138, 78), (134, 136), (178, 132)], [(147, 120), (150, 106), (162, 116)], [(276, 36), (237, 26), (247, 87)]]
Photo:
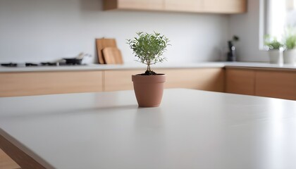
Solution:
[(269, 51), (269, 62), (276, 63), (276, 64), (283, 64), (283, 57), (282, 57), (282, 51), (281, 51), (283, 44), (278, 42), (276, 37), (265, 35), (264, 45), (266, 49)]

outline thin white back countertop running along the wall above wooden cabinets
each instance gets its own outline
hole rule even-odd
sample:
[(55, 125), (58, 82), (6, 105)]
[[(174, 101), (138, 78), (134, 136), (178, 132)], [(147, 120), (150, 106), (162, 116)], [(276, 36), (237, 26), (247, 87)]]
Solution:
[[(160, 63), (152, 65), (152, 69), (161, 68), (223, 68), (223, 67), (245, 67), (245, 68), (280, 68), (288, 70), (296, 70), (296, 65), (278, 65), (270, 63), (248, 63), (248, 62), (201, 62), (201, 63)], [(39, 72), (39, 71), (83, 71), (83, 70), (127, 70), (142, 69), (145, 70), (146, 65), (142, 63), (132, 63), (123, 65), (75, 65), (75, 66), (33, 66), (33, 67), (16, 67), (8, 68), (0, 66), (0, 73), (4, 72)]]

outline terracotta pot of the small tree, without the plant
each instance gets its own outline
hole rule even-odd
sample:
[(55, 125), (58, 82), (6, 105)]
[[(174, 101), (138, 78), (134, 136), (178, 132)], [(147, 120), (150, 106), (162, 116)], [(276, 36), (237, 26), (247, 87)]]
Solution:
[(132, 82), (140, 107), (157, 107), (161, 104), (166, 75), (132, 75)]

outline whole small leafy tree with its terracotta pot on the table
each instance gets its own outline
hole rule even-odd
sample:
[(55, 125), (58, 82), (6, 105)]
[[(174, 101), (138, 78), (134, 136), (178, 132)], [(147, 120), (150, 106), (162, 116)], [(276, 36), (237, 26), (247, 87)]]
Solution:
[(157, 107), (161, 104), (166, 75), (155, 73), (151, 65), (166, 61), (163, 56), (169, 40), (157, 32), (152, 34), (137, 32), (138, 37), (128, 39), (130, 49), (137, 61), (147, 65), (142, 74), (132, 75), (135, 96), (140, 107)]

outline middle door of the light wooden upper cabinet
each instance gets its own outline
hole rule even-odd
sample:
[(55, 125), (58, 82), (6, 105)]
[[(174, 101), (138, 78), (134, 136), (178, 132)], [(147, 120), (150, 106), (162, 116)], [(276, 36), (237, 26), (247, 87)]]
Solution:
[(202, 12), (204, 0), (165, 0), (166, 11)]

